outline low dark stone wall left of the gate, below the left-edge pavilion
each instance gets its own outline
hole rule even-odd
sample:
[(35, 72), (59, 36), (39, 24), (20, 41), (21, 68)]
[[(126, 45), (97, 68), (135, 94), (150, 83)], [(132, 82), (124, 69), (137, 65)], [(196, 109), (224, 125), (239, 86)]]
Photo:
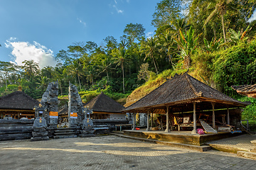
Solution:
[(32, 137), (33, 121), (0, 119), (0, 141), (30, 139)]

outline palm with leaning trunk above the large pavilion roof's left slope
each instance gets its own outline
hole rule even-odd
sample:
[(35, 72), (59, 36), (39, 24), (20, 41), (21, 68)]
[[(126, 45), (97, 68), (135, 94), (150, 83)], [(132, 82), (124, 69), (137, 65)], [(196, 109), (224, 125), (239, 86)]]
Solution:
[(146, 58), (151, 57), (151, 60), (154, 63), (154, 67), (156, 69), (156, 74), (158, 74), (157, 68), (156, 68), (156, 62), (155, 62), (155, 55), (159, 52), (160, 46), (157, 42), (156, 38), (148, 38), (146, 39), (146, 42), (142, 42), (142, 54), (145, 54), (146, 57), (144, 58), (144, 61)]

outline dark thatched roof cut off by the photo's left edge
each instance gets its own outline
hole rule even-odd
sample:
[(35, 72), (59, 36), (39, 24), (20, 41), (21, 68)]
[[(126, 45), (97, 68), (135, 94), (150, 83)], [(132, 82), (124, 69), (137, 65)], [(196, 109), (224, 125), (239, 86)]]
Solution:
[(0, 97), (1, 109), (33, 110), (34, 106), (38, 106), (38, 104), (39, 101), (31, 98), (23, 91), (15, 91)]

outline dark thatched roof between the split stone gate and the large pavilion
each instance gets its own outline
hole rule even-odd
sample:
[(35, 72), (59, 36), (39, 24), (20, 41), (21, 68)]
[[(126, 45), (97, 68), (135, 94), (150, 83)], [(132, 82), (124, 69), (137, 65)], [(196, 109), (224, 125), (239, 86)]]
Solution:
[(102, 112), (102, 113), (121, 113), (124, 106), (114, 101), (109, 96), (101, 93), (95, 98), (92, 98), (91, 101), (85, 103), (85, 107), (89, 106), (93, 112)]

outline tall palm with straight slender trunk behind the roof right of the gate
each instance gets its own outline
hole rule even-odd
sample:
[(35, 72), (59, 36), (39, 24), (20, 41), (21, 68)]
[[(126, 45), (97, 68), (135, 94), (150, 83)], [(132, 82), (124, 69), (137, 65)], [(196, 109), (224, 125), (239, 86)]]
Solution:
[[(127, 62), (127, 51), (124, 47), (120, 47), (113, 52), (113, 61), (117, 66), (120, 66), (122, 69), (122, 76), (123, 76), (123, 90), (124, 90), (124, 62)], [(124, 91), (125, 93), (125, 91)]]

